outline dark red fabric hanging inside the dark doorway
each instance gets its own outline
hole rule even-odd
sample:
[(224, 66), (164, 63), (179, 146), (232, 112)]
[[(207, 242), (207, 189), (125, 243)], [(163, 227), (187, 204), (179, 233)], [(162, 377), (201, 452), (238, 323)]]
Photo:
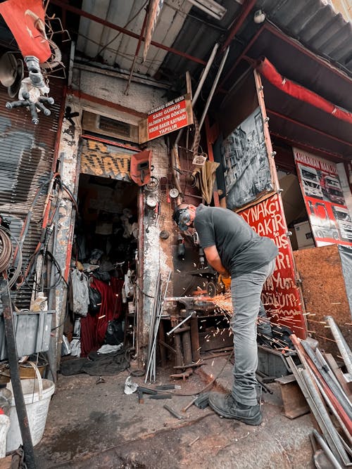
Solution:
[[(100, 311), (95, 316), (89, 313), (81, 319), (81, 356), (97, 350), (103, 345), (108, 322), (118, 319), (122, 312), (123, 281), (111, 278), (111, 285), (93, 277), (90, 286), (101, 294)], [(118, 295), (118, 296), (116, 296)]]

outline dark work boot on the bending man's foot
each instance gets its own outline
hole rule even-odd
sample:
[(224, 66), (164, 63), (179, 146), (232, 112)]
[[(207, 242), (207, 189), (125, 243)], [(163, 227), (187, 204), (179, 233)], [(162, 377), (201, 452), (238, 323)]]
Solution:
[(260, 406), (244, 406), (234, 400), (231, 394), (221, 392), (210, 392), (209, 405), (220, 416), (241, 420), (247, 425), (260, 425), (263, 420)]

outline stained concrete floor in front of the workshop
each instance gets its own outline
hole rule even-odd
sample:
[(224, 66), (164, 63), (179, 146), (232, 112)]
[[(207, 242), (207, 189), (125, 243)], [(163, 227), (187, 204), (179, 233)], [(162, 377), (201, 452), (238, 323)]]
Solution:
[[(217, 380), (230, 389), (232, 366), (224, 358), (204, 362), (187, 381), (170, 380), (171, 370), (160, 371), (157, 384), (178, 384), (181, 390), (167, 400), (124, 394), (124, 371), (104, 377), (58, 375), (46, 430), (35, 446), (37, 467), (49, 468), (313, 468), (309, 415), (290, 420), (282, 416), (277, 383), (263, 394), (263, 423), (252, 427), (217, 416), (209, 407), (186, 406), (221, 368)], [(143, 378), (132, 378), (147, 387)], [(213, 387), (214, 389), (214, 387)], [(173, 417), (168, 404), (182, 420)], [(196, 441), (195, 441), (196, 440)]]

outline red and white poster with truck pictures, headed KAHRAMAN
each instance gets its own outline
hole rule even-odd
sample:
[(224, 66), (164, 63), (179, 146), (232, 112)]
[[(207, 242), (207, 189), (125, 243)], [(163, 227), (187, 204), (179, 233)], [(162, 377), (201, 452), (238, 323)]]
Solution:
[(352, 221), (341, 189), (337, 166), (293, 148), (298, 181), (315, 244), (352, 245)]

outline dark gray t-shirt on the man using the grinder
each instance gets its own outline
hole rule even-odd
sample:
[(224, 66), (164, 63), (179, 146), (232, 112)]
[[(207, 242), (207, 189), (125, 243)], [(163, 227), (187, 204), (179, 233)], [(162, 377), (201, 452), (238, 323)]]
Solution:
[(201, 204), (196, 208), (194, 227), (201, 247), (215, 245), (222, 265), (232, 277), (259, 269), (278, 253), (274, 241), (259, 236), (232, 210)]

